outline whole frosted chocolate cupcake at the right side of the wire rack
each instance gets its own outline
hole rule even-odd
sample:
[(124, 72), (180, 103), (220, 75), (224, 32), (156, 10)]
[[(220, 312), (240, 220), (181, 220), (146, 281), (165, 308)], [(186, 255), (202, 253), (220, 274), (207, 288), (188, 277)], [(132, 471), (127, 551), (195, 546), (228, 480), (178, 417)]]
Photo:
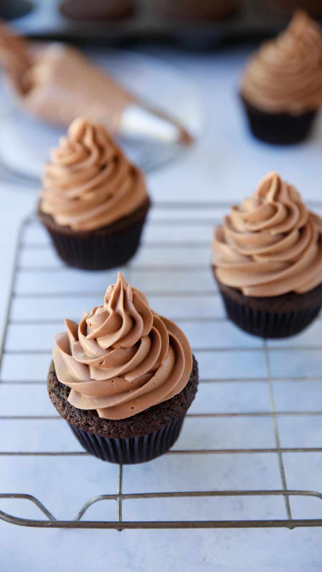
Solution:
[(214, 229), (214, 275), (227, 315), (264, 338), (299, 333), (322, 305), (322, 220), (269, 173)]

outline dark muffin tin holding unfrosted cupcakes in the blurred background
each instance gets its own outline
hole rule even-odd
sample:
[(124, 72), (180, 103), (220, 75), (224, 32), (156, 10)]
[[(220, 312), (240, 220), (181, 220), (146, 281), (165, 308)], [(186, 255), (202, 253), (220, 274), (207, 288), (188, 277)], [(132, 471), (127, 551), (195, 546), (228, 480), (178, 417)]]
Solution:
[[(0, 17), (31, 37), (115, 44), (142, 39), (176, 41), (191, 47), (213, 47), (222, 42), (276, 34), (288, 15), (269, 7), (269, 0), (244, 0), (231, 17), (192, 21), (158, 13), (154, 2), (136, 0), (133, 13), (123, 18), (77, 20), (61, 11), (63, 0), (9, 0), (1, 3)], [(17, 12), (17, 17), (15, 16)]]

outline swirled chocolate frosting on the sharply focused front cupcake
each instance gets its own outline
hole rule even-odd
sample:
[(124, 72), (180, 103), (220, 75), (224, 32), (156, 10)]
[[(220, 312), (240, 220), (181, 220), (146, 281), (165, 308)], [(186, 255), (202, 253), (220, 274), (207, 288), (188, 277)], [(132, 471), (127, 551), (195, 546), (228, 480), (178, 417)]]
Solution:
[(65, 325), (66, 332), (54, 336), (53, 360), (74, 407), (125, 419), (179, 394), (190, 378), (186, 336), (120, 273), (102, 306)]

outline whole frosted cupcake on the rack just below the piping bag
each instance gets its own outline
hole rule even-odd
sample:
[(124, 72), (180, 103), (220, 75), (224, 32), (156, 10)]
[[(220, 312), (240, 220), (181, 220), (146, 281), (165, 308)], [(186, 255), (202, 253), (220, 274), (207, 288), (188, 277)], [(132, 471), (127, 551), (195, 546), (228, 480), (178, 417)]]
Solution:
[(38, 215), (66, 264), (104, 270), (139, 247), (150, 200), (142, 172), (102, 125), (78, 118), (45, 167)]

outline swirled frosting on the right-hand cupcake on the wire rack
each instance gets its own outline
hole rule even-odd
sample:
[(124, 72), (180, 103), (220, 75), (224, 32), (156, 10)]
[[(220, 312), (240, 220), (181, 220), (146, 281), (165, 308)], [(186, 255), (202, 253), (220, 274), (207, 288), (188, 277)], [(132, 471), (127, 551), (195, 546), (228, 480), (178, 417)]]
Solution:
[(322, 283), (322, 220), (274, 172), (214, 229), (212, 250), (219, 282), (246, 296), (303, 294)]

